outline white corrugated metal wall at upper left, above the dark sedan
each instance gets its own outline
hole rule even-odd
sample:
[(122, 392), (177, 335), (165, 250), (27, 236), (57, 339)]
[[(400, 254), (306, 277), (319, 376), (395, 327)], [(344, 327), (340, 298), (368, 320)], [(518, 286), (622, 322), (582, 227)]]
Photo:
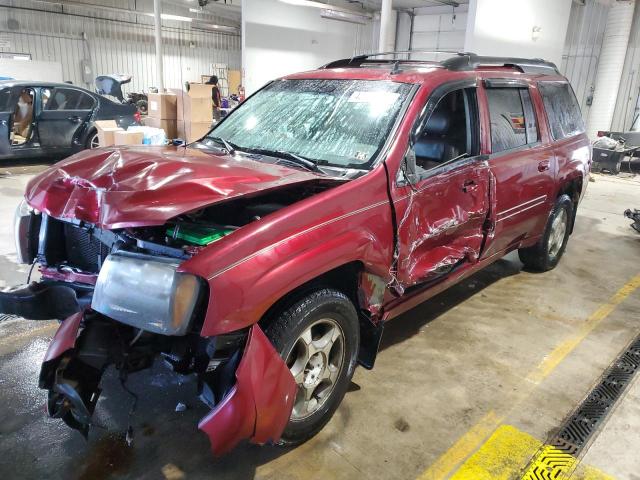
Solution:
[[(109, 5), (108, 2), (100, 2)], [(133, 2), (119, 2), (134, 8)], [(142, 2), (136, 2), (138, 8)], [(147, 2), (148, 3), (148, 2)], [(112, 6), (118, 6), (116, 1)], [(43, 13), (42, 10), (49, 10)], [(142, 14), (113, 13), (87, 8), (46, 5), (42, 2), (0, 1), (0, 51), (30, 53), (34, 60), (62, 64), (65, 80), (93, 88), (83, 81), (81, 62), (90, 62), (92, 77), (120, 73), (133, 76), (129, 90), (156, 85), (153, 19)], [(142, 11), (151, 11), (146, 9)], [(167, 11), (167, 10), (165, 10)], [(93, 18), (93, 17), (104, 18)], [(214, 19), (215, 20), (215, 19)], [(228, 21), (225, 23), (229, 23)], [(211, 73), (211, 64), (241, 68), (240, 35), (203, 32), (189, 24), (163, 21), (165, 86), (179, 88)]]

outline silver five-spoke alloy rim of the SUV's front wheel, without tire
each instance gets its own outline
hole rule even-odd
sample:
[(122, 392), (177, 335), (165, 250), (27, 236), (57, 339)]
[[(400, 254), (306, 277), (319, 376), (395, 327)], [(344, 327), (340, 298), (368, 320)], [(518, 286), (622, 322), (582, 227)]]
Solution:
[(338, 322), (323, 318), (298, 337), (286, 363), (298, 385), (291, 420), (303, 420), (324, 405), (344, 367), (344, 333)]

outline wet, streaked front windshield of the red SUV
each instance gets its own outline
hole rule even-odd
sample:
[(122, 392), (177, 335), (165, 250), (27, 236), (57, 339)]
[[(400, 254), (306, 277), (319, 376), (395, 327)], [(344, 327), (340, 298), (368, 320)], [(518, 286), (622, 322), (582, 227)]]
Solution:
[(411, 86), (368, 80), (281, 80), (242, 104), (209, 136), (234, 148), (369, 168)]

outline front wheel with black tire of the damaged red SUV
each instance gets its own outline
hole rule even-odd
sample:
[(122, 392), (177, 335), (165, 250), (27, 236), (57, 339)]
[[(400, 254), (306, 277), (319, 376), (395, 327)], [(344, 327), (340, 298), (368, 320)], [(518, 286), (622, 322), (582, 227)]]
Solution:
[(266, 335), (298, 384), (279, 444), (299, 445), (327, 424), (349, 387), (360, 342), (358, 314), (343, 293), (316, 290), (276, 315)]

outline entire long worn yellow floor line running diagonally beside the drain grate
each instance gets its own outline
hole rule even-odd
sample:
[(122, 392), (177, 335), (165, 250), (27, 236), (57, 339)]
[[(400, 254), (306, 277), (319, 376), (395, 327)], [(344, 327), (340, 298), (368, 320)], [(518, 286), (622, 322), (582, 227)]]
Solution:
[[(527, 375), (528, 388), (520, 389), (517, 398), (511, 403), (512, 407), (509, 412), (519, 408), (520, 403), (529, 397), (535, 387), (548, 377), (560, 362), (638, 287), (640, 287), (640, 274), (629, 280), (606, 303), (602, 304), (591, 314), (576, 335), (565, 340), (553, 349), (553, 351)], [(422, 472), (418, 480), (440, 480), (447, 478), (469, 455), (478, 450), (490, 434), (496, 431), (509, 412), (505, 415), (499, 415), (494, 411), (490, 411), (476, 425), (460, 437), (436, 462)], [(531, 455), (534, 454), (535, 451), (531, 452)], [(521, 468), (524, 468), (525, 465), (526, 463), (524, 465), (521, 464)]]

